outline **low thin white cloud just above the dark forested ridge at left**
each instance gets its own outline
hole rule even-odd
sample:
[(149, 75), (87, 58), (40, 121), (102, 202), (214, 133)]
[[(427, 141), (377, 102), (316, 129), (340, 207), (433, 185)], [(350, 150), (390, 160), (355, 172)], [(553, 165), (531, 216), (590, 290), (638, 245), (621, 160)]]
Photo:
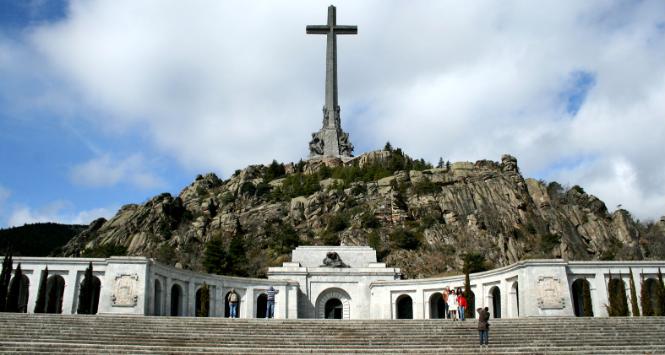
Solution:
[(117, 208), (102, 207), (91, 210), (72, 211), (71, 204), (55, 201), (39, 209), (28, 206), (16, 206), (7, 218), (9, 227), (22, 226), (29, 223), (55, 222), (64, 224), (89, 224), (93, 220), (112, 217)]

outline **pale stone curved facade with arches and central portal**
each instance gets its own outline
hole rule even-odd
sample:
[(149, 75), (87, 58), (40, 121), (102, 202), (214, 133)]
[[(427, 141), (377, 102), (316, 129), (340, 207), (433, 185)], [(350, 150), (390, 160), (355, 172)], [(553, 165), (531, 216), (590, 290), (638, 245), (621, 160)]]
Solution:
[[(325, 263), (329, 253), (336, 253), (344, 266)], [(28, 313), (34, 311), (41, 272), (48, 267), (49, 279), (64, 281), (58, 298), (61, 305), (49, 312), (76, 313), (89, 262), (100, 281), (99, 314), (194, 316), (196, 294), (205, 283), (210, 290), (212, 317), (227, 315), (224, 300), (231, 288), (240, 295), (241, 318), (263, 317), (262, 299), (273, 286), (279, 291), (276, 318), (397, 319), (405, 317), (407, 305), (407, 317), (429, 319), (440, 317), (437, 300), (445, 287), (464, 285), (463, 275), (401, 280), (400, 270), (378, 263), (369, 247), (298, 247), (291, 262), (269, 269), (268, 279), (197, 273), (143, 257), (15, 257), (14, 265), (21, 263), (27, 280), (23, 308)], [(494, 316), (574, 316), (580, 313), (575, 309), (581, 303), (573, 292), (575, 285), (588, 282), (593, 314), (605, 317), (610, 273), (623, 280), (630, 304), (629, 270), (640, 295), (639, 280), (657, 279), (659, 268), (665, 269), (665, 261), (527, 260), (475, 273), (470, 279), (475, 307), (487, 306)]]

